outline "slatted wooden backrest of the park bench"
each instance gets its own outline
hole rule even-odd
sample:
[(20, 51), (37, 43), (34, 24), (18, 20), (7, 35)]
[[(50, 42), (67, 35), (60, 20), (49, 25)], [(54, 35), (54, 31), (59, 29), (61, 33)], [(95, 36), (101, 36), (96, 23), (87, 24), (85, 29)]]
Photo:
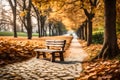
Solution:
[(46, 46), (48, 49), (50, 47), (59, 47), (62, 51), (64, 51), (65, 44), (66, 40), (46, 40)]

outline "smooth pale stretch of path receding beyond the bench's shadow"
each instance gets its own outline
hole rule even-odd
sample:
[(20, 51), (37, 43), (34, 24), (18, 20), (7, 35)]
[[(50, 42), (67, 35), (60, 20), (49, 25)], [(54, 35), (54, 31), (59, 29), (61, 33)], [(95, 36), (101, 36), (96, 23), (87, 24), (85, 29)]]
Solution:
[(73, 38), (71, 42), (69, 53), (70, 55), (66, 58), (67, 61), (82, 62), (87, 57), (87, 53), (82, 49), (76, 38)]

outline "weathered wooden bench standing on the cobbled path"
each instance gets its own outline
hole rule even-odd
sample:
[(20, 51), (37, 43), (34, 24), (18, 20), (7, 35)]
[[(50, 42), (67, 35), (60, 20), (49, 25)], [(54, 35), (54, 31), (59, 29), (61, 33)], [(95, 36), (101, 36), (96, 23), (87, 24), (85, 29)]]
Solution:
[[(55, 62), (55, 58), (60, 58), (60, 61), (64, 61), (63, 53), (64, 47), (66, 44), (66, 40), (46, 40), (46, 48), (45, 49), (35, 49), (37, 52), (37, 58), (40, 55), (43, 55), (46, 58), (46, 53), (50, 53), (52, 55), (52, 62)], [(59, 55), (56, 55), (58, 53)]]

